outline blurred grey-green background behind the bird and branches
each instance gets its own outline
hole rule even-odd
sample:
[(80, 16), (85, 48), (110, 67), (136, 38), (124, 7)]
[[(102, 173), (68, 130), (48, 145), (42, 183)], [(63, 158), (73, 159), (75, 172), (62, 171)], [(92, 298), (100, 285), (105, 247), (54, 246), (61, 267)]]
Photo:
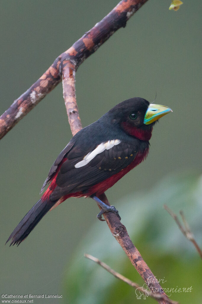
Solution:
[[(76, 94), (83, 126), (134, 96), (171, 107), (153, 131), (147, 160), (107, 191), (122, 223), (163, 287), (190, 287), (172, 299), (199, 303), (201, 261), (163, 209), (184, 210), (201, 237), (201, 1), (148, 1), (79, 67)], [(1, 1), (3, 113), (54, 59), (117, 1)], [(68, 199), (43, 218), (18, 248), (4, 246), (39, 199), (49, 168), (71, 138), (59, 84), (0, 143), (1, 293), (61, 294), (34, 303), (154, 303), (83, 257), (94, 254), (143, 285), (89, 199)]]

